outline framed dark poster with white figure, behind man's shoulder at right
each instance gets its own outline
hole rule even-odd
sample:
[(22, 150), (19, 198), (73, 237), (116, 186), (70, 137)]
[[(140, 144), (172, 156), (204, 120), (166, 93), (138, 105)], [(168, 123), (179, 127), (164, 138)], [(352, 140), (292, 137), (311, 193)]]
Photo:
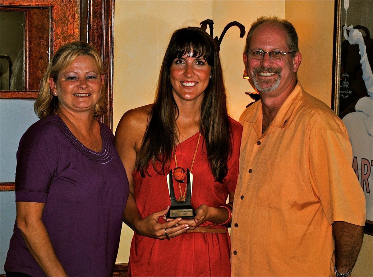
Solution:
[(352, 167), (366, 197), (373, 235), (373, 1), (336, 0), (334, 109), (352, 145)]

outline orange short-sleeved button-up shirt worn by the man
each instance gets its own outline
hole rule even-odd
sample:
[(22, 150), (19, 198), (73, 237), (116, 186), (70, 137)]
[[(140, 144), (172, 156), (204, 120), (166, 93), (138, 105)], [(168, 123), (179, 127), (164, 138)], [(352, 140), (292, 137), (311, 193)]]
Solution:
[(343, 122), (298, 83), (264, 134), (260, 101), (240, 123), (232, 276), (335, 276), (331, 224), (366, 216)]

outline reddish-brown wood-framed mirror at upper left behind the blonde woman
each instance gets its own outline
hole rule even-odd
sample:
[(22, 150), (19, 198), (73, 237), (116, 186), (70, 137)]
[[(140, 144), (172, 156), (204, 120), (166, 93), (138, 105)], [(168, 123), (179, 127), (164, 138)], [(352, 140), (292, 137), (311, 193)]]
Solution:
[(80, 1), (1, 1), (0, 99), (36, 99), (54, 49), (80, 40), (79, 12)]

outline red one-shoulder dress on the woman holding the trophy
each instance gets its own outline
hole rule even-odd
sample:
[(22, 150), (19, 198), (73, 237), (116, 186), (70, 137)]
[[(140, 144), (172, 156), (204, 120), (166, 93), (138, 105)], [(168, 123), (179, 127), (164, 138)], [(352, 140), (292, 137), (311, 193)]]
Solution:
[[(204, 137), (201, 136), (192, 169), (192, 206), (202, 204), (219, 207), (226, 203), (229, 192), (234, 192), (241, 144), (241, 125), (231, 119), (233, 130), (233, 153), (228, 161), (228, 175), (224, 183), (215, 182), (206, 157)], [(176, 146), (178, 166), (190, 168), (199, 133)], [(175, 168), (172, 159), (170, 169)], [(148, 168), (151, 175), (141, 177), (137, 170), (134, 176), (134, 194), (142, 218), (170, 205), (166, 175), (157, 174), (153, 166)], [(180, 196), (175, 181), (176, 199)], [(185, 184), (182, 184), (184, 192)], [(162, 218), (159, 222), (164, 222)], [(206, 221), (201, 226), (226, 228)], [(129, 257), (129, 276), (231, 276), (230, 237), (222, 233), (184, 233), (170, 240), (158, 240), (134, 233)]]

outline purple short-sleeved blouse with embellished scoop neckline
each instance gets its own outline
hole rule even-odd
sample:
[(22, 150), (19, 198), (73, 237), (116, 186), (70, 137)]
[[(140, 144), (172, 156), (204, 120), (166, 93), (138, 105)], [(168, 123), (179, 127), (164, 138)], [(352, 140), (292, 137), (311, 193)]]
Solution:
[[(112, 275), (119, 247), (128, 180), (112, 131), (100, 128), (96, 153), (48, 115), (23, 134), (17, 152), (16, 202), (45, 203), (42, 220), (69, 276)], [(16, 225), (4, 269), (45, 276)]]

